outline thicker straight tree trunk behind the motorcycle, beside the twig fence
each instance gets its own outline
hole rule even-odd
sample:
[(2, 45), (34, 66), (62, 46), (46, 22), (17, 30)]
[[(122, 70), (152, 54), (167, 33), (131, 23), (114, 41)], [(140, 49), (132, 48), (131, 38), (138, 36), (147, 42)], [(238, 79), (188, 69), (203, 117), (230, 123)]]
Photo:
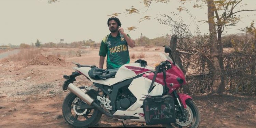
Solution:
[(215, 29), (215, 22), (214, 22), (214, 0), (207, 0), (208, 6), (208, 25), (209, 25), (209, 45), (210, 45), (210, 54), (213, 56), (210, 59), (212, 63), (210, 65), (210, 72), (214, 80), (212, 81), (212, 92), (216, 93), (218, 91), (219, 85), (221, 83), (221, 78), (219, 76), (220, 73), (220, 66), (217, 57), (217, 35)]

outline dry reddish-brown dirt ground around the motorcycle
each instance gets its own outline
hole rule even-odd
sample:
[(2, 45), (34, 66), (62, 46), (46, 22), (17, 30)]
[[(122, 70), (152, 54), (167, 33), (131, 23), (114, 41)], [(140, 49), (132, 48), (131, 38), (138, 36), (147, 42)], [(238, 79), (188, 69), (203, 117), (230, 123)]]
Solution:
[[(131, 62), (139, 57), (154, 67), (161, 61), (155, 48), (130, 48)], [(76, 51), (81, 51), (77, 56)], [(0, 60), (0, 128), (70, 128), (62, 116), (62, 101), (68, 94), (61, 88), (63, 74), (70, 75), (75, 67), (71, 61), (84, 65), (99, 63), (99, 49), (41, 49), (36, 59), (21, 64)], [(163, 51), (163, 49), (162, 49)], [(49, 56), (51, 55), (51, 56)], [(104, 67), (106, 65), (104, 64)], [(78, 76), (76, 85), (90, 85)], [(193, 95), (201, 113), (200, 128), (255, 128), (256, 97), (224, 93)], [(142, 123), (124, 122), (127, 127), (152, 127)], [(120, 121), (102, 115), (95, 127), (123, 127)], [(160, 126), (153, 126), (160, 127)]]

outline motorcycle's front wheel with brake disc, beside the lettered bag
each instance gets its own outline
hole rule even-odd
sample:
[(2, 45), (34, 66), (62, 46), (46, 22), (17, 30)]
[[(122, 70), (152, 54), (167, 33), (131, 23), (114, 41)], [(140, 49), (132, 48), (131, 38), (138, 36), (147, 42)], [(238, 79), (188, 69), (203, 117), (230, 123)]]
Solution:
[(177, 119), (176, 119), (176, 123), (172, 124), (167, 124), (167, 125), (163, 125), (166, 128), (174, 128), (178, 127), (178, 128), (197, 128), (200, 124), (200, 112), (199, 109), (197, 107), (197, 105), (195, 104), (195, 102), (191, 99), (187, 99), (186, 100), (186, 104), (187, 104), (187, 109), (186, 109), (186, 121), (181, 121), (179, 119), (179, 112), (177, 112)]

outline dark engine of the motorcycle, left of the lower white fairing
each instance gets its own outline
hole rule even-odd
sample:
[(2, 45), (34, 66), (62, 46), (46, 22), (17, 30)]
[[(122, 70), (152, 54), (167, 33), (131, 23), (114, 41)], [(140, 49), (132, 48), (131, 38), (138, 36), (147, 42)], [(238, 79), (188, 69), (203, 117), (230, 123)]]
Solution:
[(137, 101), (137, 98), (132, 95), (128, 86), (119, 89), (118, 96), (116, 99), (116, 109), (117, 110), (126, 110), (133, 103)]

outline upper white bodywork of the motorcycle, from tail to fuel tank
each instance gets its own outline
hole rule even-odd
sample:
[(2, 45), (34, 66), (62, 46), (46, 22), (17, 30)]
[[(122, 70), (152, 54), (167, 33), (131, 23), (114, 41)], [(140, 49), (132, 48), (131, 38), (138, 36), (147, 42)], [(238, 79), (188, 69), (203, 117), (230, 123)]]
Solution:
[(127, 64), (121, 66), (118, 69), (118, 71), (117, 71), (117, 73), (115, 75), (115, 78), (109, 78), (109, 79), (106, 79), (106, 80), (93, 80), (93, 79), (91, 79), (89, 77), (89, 75), (88, 75), (88, 72), (91, 69), (89, 67), (80, 67), (80, 68), (75, 67), (73, 69), (83, 73), (86, 77), (88, 77), (88, 79), (90, 79), (91, 82), (111, 86), (111, 85), (116, 84), (118, 82), (124, 81), (126, 79), (130, 79), (130, 78), (132, 78), (134, 76), (137, 76), (137, 74), (134, 71), (126, 68), (125, 66), (133, 66), (133, 67), (145, 68), (145, 69), (149, 69), (151, 71), (154, 70), (154, 68), (152, 68), (150, 66), (141, 67), (140, 65), (141, 65), (140, 63), (127, 63)]

